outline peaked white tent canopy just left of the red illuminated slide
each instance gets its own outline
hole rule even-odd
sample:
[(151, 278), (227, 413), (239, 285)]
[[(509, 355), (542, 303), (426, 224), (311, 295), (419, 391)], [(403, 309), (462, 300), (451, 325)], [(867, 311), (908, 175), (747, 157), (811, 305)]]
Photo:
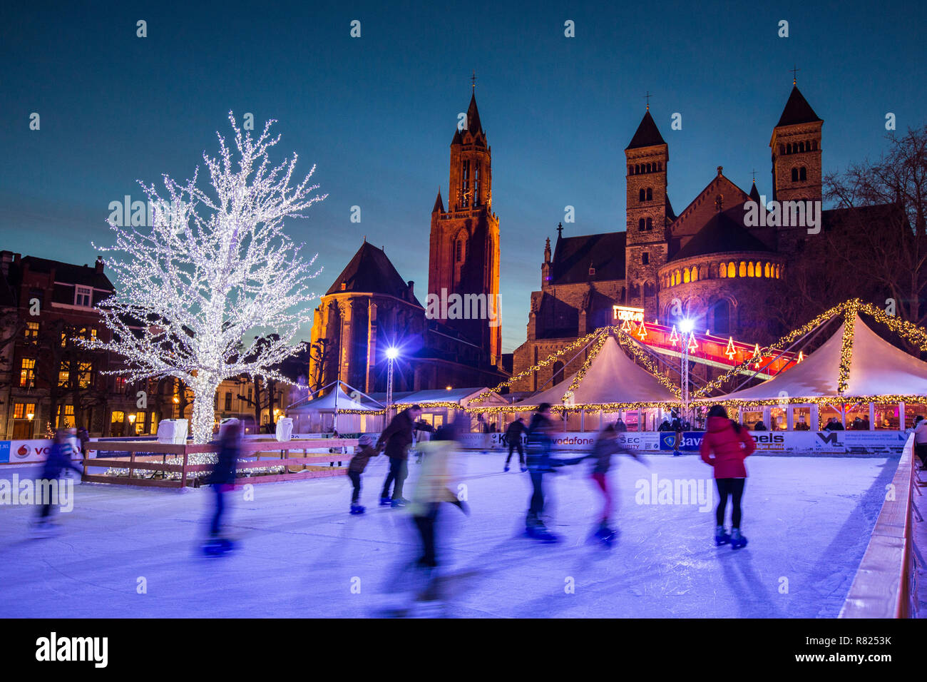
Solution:
[(579, 382), (573, 396), (563, 401), (578, 372), (552, 388), (536, 393), (515, 405), (609, 405), (630, 403), (678, 403), (673, 395), (653, 374), (637, 365), (618, 347), (615, 337), (609, 336), (599, 353), (592, 358), (586, 375)]

